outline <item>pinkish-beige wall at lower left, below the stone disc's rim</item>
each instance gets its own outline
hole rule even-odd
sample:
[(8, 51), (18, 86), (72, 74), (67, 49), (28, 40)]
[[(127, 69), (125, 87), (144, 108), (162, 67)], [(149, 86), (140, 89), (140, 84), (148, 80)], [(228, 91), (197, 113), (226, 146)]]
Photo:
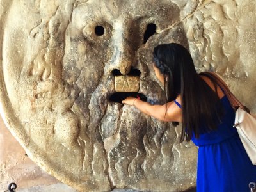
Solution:
[(19, 191), (60, 182), (29, 159), (24, 149), (4, 126), (1, 118), (0, 146), (0, 191), (6, 191), (11, 182), (17, 184)]

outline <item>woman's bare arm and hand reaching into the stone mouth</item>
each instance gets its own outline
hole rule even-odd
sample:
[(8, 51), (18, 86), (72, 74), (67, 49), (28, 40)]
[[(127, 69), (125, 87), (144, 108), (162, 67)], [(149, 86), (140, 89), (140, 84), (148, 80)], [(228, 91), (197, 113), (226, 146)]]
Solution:
[(127, 97), (122, 103), (135, 106), (142, 113), (165, 122), (181, 122), (182, 120), (181, 109), (174, 102), (168, 102), (164, 105), (152, 105), (134, 97)]

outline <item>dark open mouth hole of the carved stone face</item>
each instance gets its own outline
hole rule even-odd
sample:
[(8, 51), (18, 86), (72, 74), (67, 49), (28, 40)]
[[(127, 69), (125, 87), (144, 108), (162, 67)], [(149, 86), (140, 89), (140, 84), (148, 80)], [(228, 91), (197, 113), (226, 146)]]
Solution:
[(137, 92), (116, 92), (110, 96), (109, 100), (111, 102), (122, 103), (122, 100), (124, 100), (126, 97), (134, 97), (143, 101), (147, 101), (147, 97), (145, 95)]

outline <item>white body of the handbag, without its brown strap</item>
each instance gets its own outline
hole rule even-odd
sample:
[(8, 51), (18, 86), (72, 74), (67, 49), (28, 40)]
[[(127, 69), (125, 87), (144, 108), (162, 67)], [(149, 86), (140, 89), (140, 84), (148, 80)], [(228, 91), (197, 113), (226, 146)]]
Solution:
[(256, 118), (240, 107), (236, 111), (234, 127), (252, 164), (256, 165)]

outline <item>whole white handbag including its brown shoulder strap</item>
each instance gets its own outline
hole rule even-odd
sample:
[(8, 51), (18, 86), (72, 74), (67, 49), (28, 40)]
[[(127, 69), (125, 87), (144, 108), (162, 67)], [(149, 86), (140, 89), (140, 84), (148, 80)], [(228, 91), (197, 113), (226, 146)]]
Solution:
[[(236, 111), (233, 127), (237, 128), (237, 132), (248, 157), (251, 159), (252, 164), (256, 165), (256, 117), (250, 115), (250, 110), (241, 104), (236, 96), (229, 90), (227, 84), (218, 75), (213, 72), (202, 72), (200, 74), (215, 80), (228, 97), (232, 108)], [(237, 107), (239, 108), (237, 109)]]

